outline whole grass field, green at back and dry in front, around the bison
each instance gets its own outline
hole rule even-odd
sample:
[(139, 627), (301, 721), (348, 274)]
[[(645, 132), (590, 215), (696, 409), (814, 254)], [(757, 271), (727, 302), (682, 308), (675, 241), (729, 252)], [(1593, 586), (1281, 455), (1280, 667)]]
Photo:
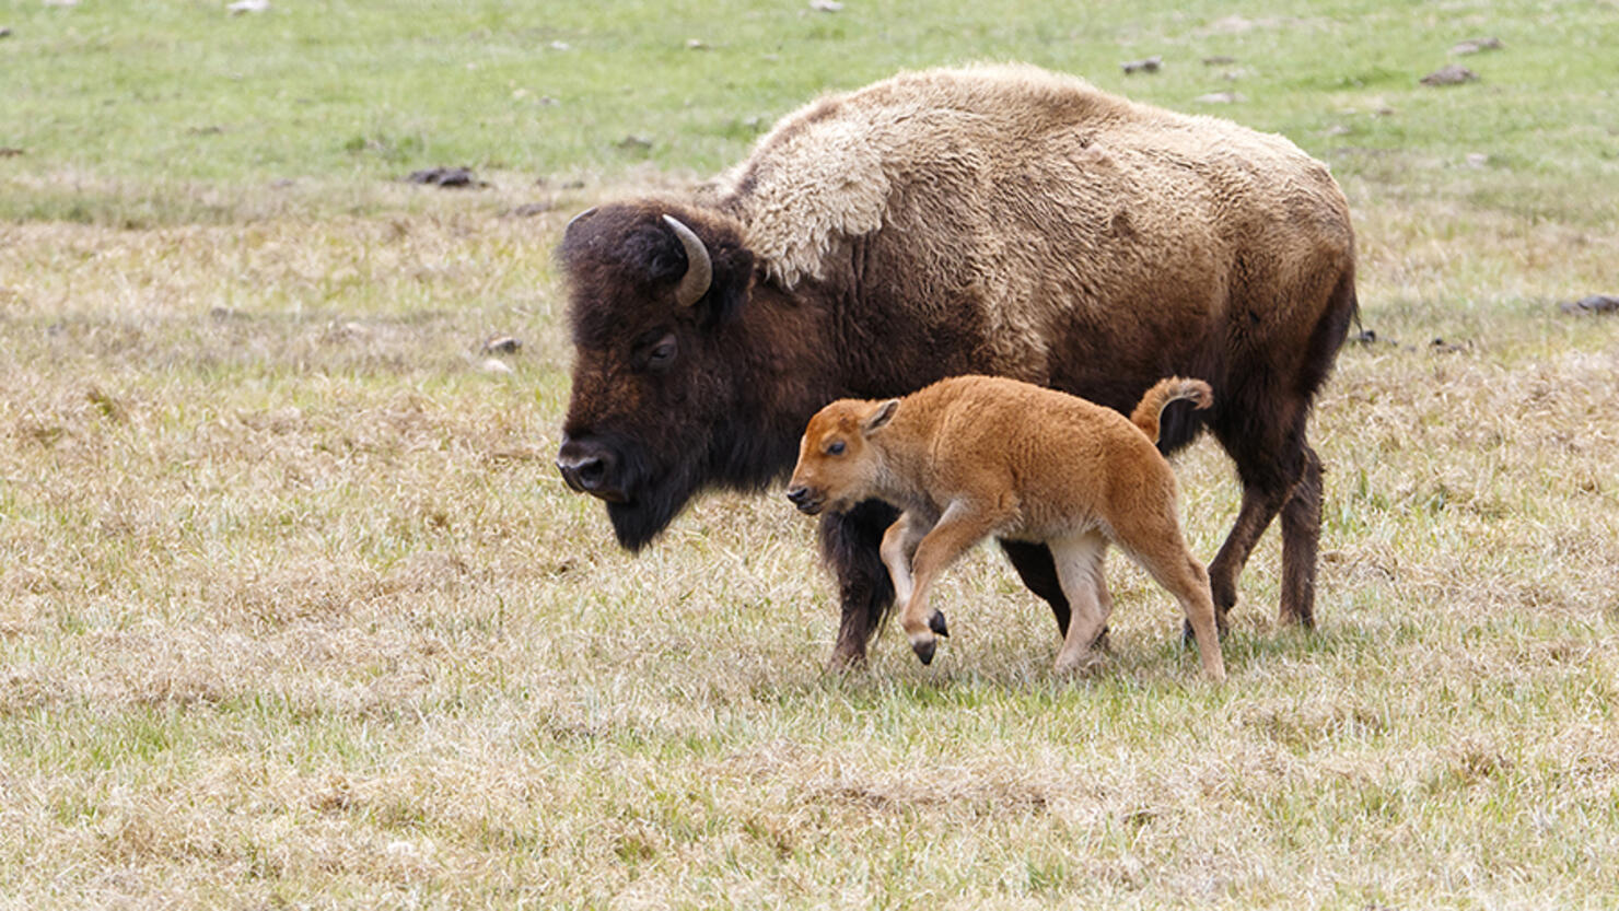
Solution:
[[(1619, 6), (0, 6), (0, 908), (1619, 906), (1619, 317), (1557, 309), (1619, 293)], [(1273, 532), (1224, 688), (1117, 557), (1052, 678), (988, 549), (931, 668), (826, 675), (780, 497), (628, 557), (550, 464), (572, 212), (975, 58), (1350, 197), (1321, 628)], [(1213, 555), (1229, 463), (1177, 472)]]

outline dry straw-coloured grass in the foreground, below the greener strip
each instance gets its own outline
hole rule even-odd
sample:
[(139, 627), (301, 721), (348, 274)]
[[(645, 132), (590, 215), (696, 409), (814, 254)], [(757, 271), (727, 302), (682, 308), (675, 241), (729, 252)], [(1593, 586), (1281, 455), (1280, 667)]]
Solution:
[(1315, 424), (1321, 631), (1268, 539), (1222, 689), (1122, 560), (1091, 676), (983, 550), (933, 668), (835, 678), (779, 498), (615, 552), (550, 468), (567, 210), (0, 228), (0, 905), (1609, 905), (1619, 320), (1554, 301), (1619, 249), (1350, 191), (1397, 343)]

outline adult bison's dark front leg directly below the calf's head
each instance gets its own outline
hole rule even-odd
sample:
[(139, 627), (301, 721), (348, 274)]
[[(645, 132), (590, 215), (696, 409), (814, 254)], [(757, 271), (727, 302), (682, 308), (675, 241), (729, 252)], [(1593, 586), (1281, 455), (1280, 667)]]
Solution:
[(899, 510), (866, 500), (847, 513), (821, 518), (821, 553), (837, 574), (843, 617), (832, 649), (832, 670), (866, 660), (866, 644), (894, 605), (894, 583), (882, 565), (882, 532), (899, 518)]

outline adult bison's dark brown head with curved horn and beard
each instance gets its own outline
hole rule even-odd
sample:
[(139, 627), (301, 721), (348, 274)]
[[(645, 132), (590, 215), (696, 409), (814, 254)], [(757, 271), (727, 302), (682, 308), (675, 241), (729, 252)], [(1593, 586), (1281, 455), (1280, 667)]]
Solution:
[(568, 225), (559, 256), (576, 362), (557, 469), (607, 503), (618, 544), (641, 549), (706, 485), (780, 471), (737, 476), (771, 460), (743, 451), (761, 442), (742, 426), (753, 254), (735, 227), (690, 207), (604, 206)]

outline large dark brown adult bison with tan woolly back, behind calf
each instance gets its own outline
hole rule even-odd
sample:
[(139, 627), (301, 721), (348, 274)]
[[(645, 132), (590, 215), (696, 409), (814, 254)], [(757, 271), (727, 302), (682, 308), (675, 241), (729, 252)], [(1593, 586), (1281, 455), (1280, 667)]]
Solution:
[[(834, 398), (1002, 374), (1128, 411), (1182, 374), (1214, 408), (1166, 414), (1161, 448), (1208, 426), (1242, 479), (1209, 565), (1221, 621), (1281, 511), (1281, 617), (1311, 625), (1305, 424), (1357, 309), (1355, 243), (1326, 167), (1287, 139), (1031, 66), (903, 73), (787, 117), (695, 194), (578, 215), (560, 259), (576, 364), (557, 466), (628, 549), (698, 490), (784, 477)], [(834, 663), (865, 657), (892, 602), (894, 516), (822, 519)], [(1051, 552), (1002, 547), (1065, 629)]]

